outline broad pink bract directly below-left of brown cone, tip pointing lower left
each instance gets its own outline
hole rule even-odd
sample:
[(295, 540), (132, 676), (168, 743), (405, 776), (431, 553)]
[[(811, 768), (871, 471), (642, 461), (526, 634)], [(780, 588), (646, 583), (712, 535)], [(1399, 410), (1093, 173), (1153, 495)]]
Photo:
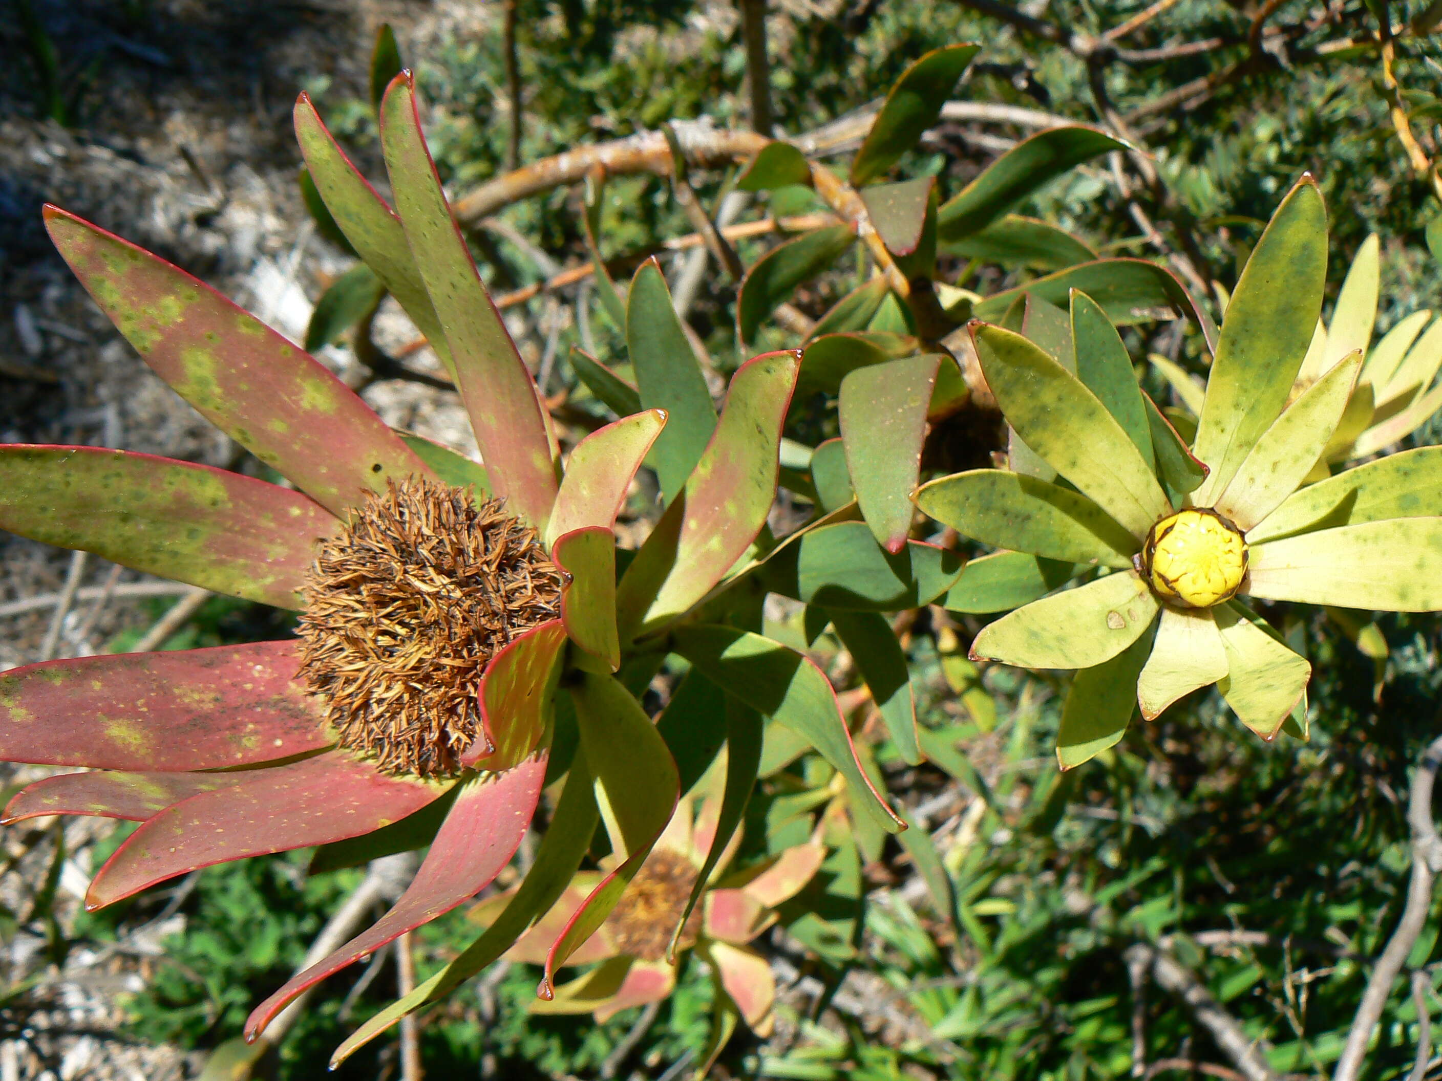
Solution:
[(252, 771), (242, 784), (192, 796), (125, 839), (95, 875), (87, 908), (247, 856), (327, 845), (389, 826), (444, 791), (388, 777), (345, 751)]

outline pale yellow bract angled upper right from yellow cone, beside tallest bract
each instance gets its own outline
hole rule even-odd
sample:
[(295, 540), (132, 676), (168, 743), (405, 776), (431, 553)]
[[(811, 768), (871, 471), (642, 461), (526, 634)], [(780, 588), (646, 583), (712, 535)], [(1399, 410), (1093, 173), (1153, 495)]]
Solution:
[(1335, 365), (1262, 432), (1213, 506), (1244, 530), (1276, 510), (1306, 479), (1343, 418), (1361, 353)]

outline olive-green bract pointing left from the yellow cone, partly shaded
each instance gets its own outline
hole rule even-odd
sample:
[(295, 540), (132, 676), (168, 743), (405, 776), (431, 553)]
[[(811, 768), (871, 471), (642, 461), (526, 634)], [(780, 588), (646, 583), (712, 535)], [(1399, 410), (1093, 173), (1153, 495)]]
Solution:
[(916, 493), (921, 510), (994, 548), (1069, 564), (1128, 568), (1141, 545), (1079, 491), (1008, 470), (942, 477)]

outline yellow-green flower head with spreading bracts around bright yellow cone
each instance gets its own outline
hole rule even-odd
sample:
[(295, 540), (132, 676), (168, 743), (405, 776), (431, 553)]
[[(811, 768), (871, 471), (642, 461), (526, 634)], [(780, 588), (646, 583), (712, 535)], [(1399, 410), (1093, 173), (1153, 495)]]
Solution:
[[(1283, 725), (1305, 735), (1311, 664), (1255, 602), (1442, 608), (1442, 448), (1304, 487), (1363, 369), (1354, 349), (1293, 396), (1325, 270), (1325, 210), (1304, 177), (1227, 306), (1190, 447), (1083, 294), (1071, 295), (1070, 365), (1018, 333), (972, 324), (999, 408), (1067, 486), (976, 470), (934, 480), (916, 500), (1011, 549), (973, 562), (953, 594), (1009, 575), (1014, 595), (1040, 597), (985, 627), (970, 656), (1079, 669), (1061, 716), (1064, 768), (1116, 744), (1133, 705), (1151, 719), (1213, 683), (1263, 738)], [(1073, 574), (1089, 581), (1043, 595)]]

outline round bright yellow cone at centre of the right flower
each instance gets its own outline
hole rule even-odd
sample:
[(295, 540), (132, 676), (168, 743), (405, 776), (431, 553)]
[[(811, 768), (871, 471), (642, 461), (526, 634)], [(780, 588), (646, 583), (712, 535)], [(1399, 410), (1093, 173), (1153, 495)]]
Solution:
[(1231, 597), (1246, 578), (1247, 542), (1216, 510), (1180, 510), (1146, 535), (1142, 571), (1164, 601), (1210, 608)]

